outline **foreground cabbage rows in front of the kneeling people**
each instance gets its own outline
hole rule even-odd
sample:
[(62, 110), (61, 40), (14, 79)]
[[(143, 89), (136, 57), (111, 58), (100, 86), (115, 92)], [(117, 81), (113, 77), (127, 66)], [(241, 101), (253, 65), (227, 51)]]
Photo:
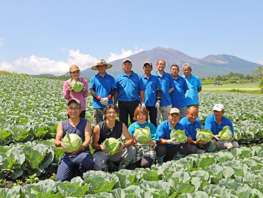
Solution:
[(70, 182), (0, 189), (8, 198), (263, 198), (263, 145), (192, 154), (151, 169), (88, 171)]

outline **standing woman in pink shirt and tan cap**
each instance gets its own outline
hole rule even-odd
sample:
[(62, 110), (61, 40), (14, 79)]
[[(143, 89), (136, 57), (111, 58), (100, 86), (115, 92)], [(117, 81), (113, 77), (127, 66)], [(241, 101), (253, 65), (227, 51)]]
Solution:
[[(85, 100), (85, 98), (87, 98), (87, 96), (88, 96), (88, 82), (85, 79), (79, 77), (79, 72), (80, 72), (80, 69), (78, 68), (77, 65), (71, 65), (70, 66), (70, 68), (69, 68), (70, 79), (68, 79), (63, 85), (63, 96), (67, 101), (69, 101), (72, 98), (78, 99), (80, 101), (80, 105), (81, 105), (80, 117), (85, 118), (85, 113), (86, 113), (86, 100)], [(86, 89), (84, 91), (81, 91), (81, 92), (69, 91), (68, 86), (71, 83), (71, 78), (74, 78), (76, 81), (79, 81), (82, 84), (84, 84)]]

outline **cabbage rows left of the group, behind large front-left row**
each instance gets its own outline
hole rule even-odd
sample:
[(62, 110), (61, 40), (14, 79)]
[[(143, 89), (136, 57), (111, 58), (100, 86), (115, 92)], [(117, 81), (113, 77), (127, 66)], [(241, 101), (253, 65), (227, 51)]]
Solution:
[[(55, 138), (67, 118), (63, 81), (0, 75), (0, 145)], [(86, 117), (92, 120), (91, 96)]]

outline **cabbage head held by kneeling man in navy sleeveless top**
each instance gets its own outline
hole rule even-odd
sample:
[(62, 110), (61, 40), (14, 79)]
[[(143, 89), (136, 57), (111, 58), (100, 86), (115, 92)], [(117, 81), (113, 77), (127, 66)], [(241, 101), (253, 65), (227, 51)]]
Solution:
[(67, 152), (73, 152), (77, 150), (81, 145), (82, 140), (77, 134), (66, 134), (66, 136), (63, 138), (63, 148)]

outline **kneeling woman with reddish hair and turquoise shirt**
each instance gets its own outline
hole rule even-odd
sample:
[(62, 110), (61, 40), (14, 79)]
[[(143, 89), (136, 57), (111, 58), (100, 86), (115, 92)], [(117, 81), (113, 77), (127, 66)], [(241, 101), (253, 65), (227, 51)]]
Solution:
[[(127, 167), (127, 169), (132, 170), (135, 168), (150, 168), (155, 160), (156, 152), (154, 150), (154, 146), (156, 145), (156, 141), (159, 141), (159, 138), (155, 126), (152, 123), (146, 121), (147, 118), (148, 110), (143, 106), (137, 106), (137, 108), (134, 111), (133, 118), (134, 120), (136, 120), (136, 122), (132, 123), (128, 128), (130, 134), (134, 138), (136, 153), (131, 164)], [(150, 139), (146, 140), (148, 142), (144, 144), (138, 143), (138, 140), (134, 135), (138, 134), (138, 131), (136, 132), (136, 130), (141, 129), (148, 130), (150, 133)]]

